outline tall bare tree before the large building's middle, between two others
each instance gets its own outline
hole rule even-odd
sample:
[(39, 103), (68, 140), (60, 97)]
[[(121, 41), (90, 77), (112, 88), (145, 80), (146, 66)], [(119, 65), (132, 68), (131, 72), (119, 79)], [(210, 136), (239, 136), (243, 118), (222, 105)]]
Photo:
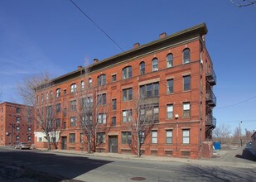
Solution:
[(76, 119), (84, 136), (86, 136), (88, 153), (96, 151), (96, 147), (105, 142), (105, 136), (98, 136), (97, 133), (109, 132), (111, 124), (107, 122), (109, 116), (109, 104), (106, 97), (105, 74), (98, 78), (98, 87), (93, 87), (89, 78), (90, 67), (85, 69), (81, 80), (81, 89), (76, 93), (78, 108)]

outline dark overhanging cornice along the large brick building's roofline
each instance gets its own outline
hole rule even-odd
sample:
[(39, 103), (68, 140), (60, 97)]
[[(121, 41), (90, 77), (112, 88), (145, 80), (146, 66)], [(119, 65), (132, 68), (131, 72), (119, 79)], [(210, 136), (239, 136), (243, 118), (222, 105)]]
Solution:
[[(118, 55), (114, 55), (114, 56), (111, 56), (111, 57), (106, 58), (104, 60), (100, 60), (99, 62), (93, 63), (92, 65), (88, 65), (86, 67), (94, 67), (94, 65), (101, 65), (104, 62), (107, 62), (109, 60), (114, 60), (114, 59), (116, 59), (118, 57), (121, 57), (123, 55), (131, 54), (131, 53), (133, 53), (133, 51), (138, 51), (138, 50), (145, 49), (145, 48), (147, 48), (150, 45), (154, 45), (154, 44), (157, 44), (157, 43), (162, 42), (162, 41), (167, 41), (169, 39), (172, 39), (172, 38), (177, 37), (177, 36), (182, 36), (182, 35), (184, 35), (184, 34), (186, 34), (188, 32), (192, 32), (192, 31), (198, 31), (200, 33), (200, 36), (202, 36), (202, 35), (207, 34), (208, 29), (207, 29), (207, 26), (206, 26), (205, 22), (204, 23), (200, 23), (199, 25), (191, 26), (190, 28), (187, 28), (187, 29), (185, 29), (183, 31), (178, 31), (178, 32), (176, 32), (174, 34), (171, 34), (170, 36), (166, 36), (166, 37), (164, 37), (162, 39), (158, 39), (156, 41), (151, 41), (151, 42), (146, 43), (144, 45), (140, 45), (140, 46), (138, 46), (138, 48), (133, 48), (131, 50), (124, 51), (124, 52), (122, 52), (122, 53), (120, 53)], [(83, 69), (85, 69), (85, 67)], [(80, 71), (81, 71), (81, 69), (72, 71), (72, 72), (70, 72), (68, 74), (63, 74), (63, 75), (57, 77), (56, 79), (51, 79), (51, 83), (54, 83), (55, 81), (57, 81), (59, 79), (63, 79), (63, 78), (65, 78), (65, 77), (67, 77), (67, 76), (69, 76), (71, 74), (76, 74), (76, 73), (78, 73)]]

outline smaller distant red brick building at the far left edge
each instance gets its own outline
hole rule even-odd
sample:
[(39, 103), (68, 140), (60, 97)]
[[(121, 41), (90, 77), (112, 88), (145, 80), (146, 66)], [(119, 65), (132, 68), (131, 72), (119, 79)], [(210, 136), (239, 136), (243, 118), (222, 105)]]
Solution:
[(27, 118), (27, 106), (18, 103), (0, 103), (1, 146), (13, 146), (17, 142), (34, 141), (34, 128)]

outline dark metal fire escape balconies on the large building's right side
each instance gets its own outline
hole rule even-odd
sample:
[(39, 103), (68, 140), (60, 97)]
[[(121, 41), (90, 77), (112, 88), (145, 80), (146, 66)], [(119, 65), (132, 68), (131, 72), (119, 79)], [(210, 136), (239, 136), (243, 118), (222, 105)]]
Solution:
[(205, 122), (205, 136), (211, 139), (212, 130), (216, 127), (216, 118), (213, 117), (212, 110), (216, 106), (216, 97), (213, 93), (212, 87), (216, 84), (216, 74), (214, 69), (206, 73), (206, 122)]

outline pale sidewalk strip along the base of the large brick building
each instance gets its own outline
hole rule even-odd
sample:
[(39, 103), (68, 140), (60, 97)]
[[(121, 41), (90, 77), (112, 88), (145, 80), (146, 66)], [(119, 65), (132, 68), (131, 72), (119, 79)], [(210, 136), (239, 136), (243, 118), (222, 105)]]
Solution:
[[(116, 159), (124, 159), (124, 160), (151, 160), (151, 161), (159, 161), (159, 162), (181, 162), (184, 164), (191, 164), (191, 165), (210, 165), (210, 166), (220, 166), (220, 167), (236, 167), (236, 168), (256, 168), (255, 164), (248, 164), (246, 161), (244, 162), (236, 162), (236, 161), (220, 161), (215, 159), (200, 159), (200, 160), (193, 160), (188, 158), (176, 158), (176, 157), (166, 157), (166, 156), (141, 156), (138, 158), (136, 155), (128, 155), (128, 154), (118, 154), (118, 153), (104, 153), (104, 152), (94, 152), (94, 153), (87, 153), (85, 151), (68, 151), (68, 150), (52, 150), (46, 151), (51, 153), (65, 153), (65, 154), (75, 154), (81, 155), (86, 157), (92, 158), (116, 158)], [(224, 155), (228, 151), (223, 151), (220, 155)]]

